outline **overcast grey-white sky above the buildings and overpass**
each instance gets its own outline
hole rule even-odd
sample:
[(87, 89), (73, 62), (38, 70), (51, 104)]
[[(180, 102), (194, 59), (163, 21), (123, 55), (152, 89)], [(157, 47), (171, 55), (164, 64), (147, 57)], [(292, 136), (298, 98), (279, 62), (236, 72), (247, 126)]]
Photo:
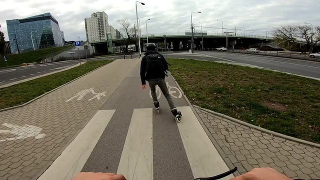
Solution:
[[(148, 21), (149, 34), (181, 33), (190, 30), (191, 11), (193, 24), (208, 32), (221, 32), (223, 27), (239, 27), (239, 32), (265, 35), (273, 27), (286, 24), (309, 22), (320, 24), (319, 0), (143, 0), (138, 4), (138, 16), (141, 21), (141, 33), (145, 34), (145, 20)], [(120, 28), (116, 20), (128, 18), (133, 24), (135, 18), (135, 0), (0, 0), (0, 24), (5, 40), (8, 40), (6, 20), (25, 18), (50, 12), (64, 31), (65, 40), (76, 40), (75, 36), (85, 40), (84, 18), (92, 12), (104, 11), (109, 24)], [(268, 27), (269, 26), (269, 27)], [(207, 28), (211, 27), (211, 28)], [(220, 28), (220, 29), (218, 29)], [(195, 27), (200, 30), (200, 27)], [(249, 31), (252, 30), (252, 31)], [(255, 31), (253, 31), (255, 30)], [(238, 33), (239, 33), (238, 32)]]

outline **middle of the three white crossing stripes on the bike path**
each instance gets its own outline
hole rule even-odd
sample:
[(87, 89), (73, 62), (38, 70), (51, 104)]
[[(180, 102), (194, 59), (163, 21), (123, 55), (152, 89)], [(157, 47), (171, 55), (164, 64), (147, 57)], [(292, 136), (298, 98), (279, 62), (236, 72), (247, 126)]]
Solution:
[(117, 173), (127, 180), (153, 179), (152, 108), (133, 110)]

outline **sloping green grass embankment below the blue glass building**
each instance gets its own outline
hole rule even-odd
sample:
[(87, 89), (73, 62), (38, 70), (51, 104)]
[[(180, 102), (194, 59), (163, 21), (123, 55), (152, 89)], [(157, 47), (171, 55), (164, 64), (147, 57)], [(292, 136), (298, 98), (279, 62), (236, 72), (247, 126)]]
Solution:
[(0, 67), (21, 65), (22, 63), (35, 62), (38, 58), (44, 59), (46, 57), (50, 57), (51, 52), (53, 52), (53, 55), (57, 55), (58, 53), (64, 50), (67, 50), (70, 47), (72, 47), (72, 45), (65, 45), (61, 47), (52, 47), (52, 48), (39, 49), (34, 51), (21, 52), (19, 54), (8, 54), (6, 57), (7, 65), (2, 59), (3, 57), (1, 57)]

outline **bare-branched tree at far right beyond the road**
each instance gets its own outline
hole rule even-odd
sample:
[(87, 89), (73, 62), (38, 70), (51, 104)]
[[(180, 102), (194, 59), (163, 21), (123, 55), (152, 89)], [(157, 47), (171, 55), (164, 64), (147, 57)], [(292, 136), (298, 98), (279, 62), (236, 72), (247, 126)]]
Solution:
[(297, 47), (304, 42), (306, 43), (306, 48), (309, 49), (309, 52), (312, 52), (316, 43), (320, 41), (319, 28), (320, 26), (316, 26), (316, 31), (313, 31), (312, 33), (311, 26), (308, 25), (281, 26), (275, 30), (274, 37), (278, 42), (287, 43), (293, 47)]

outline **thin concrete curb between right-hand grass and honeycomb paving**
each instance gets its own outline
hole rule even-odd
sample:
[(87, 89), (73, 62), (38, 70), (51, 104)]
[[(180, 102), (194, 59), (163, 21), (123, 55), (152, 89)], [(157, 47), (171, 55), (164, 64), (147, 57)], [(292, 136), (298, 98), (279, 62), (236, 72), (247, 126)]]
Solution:
[(222, 118), (225, 118), (225, 119), (228, 119), (228, 120), (231, 120), (233, 122), (236, 122), (236, 123), (239, 123), (241, 125), (244, 125), (244, 126), (247, 126), (247, 127), (250, 127), (250, 128), (253, 128), (253, 129), (256, 129), (256, 130), (259, 130), (261, 132), (265, 132), (265, 133), (268, 133), (268, 134), (272, 134), (274, 136), (277, 136), (277, 137), (280, 137), (280, 138), (284, 138), (286, 140), (291, 140), (291, 141), (294, 141), (294, 142), (298, 142), (298, 143), (301, 143), (301, 144), (306, 144), (306, 145), (310, 145), (310, 146), (313, 146), (313, 147), (317, 147), (317, 148), (320, 148), (320, 144), (318, 143), (314, 143), (314, 142), (310, 142), (310, 141), (306, 141), (306, 140), (302, 140), (302, 139), (299, 139), (299, 138), (295, 138), (295, 137), (291, 137), (291, 136), (288, 136), (288, 135), (284, 135), (284, 134), (281, 134), (281, 133), (278, 133), (278, 132), (274, 132), (272, 130), (268, 130), (268, 129), (265, 129), (265, 128), (262, 128), (262, 127), (258, 127), (256, 125), (252, 125), (250, 123), (247, 123), (247, 122), (244, 122), (242, 120), (238, 120), (236, 118), (233, 118), (233, 117), (230, 117), (230, 116), (227, 116), (227, 115), (224, 115), (224, 114), (221, 114), (221, 113), (218, 113), (218, 112), (214, 112), (212, 110), (209, 110), (209, 109), (206, 109), (206, 108), (202, 108), (202, 107), (199, 107), (197, 105), (193, 105), (199, 109), (202, 109), (204, 111), (207, 111), (209, 113), (212, 113), (214, 115), (217, 115), (217, 116), (220, 116)]

